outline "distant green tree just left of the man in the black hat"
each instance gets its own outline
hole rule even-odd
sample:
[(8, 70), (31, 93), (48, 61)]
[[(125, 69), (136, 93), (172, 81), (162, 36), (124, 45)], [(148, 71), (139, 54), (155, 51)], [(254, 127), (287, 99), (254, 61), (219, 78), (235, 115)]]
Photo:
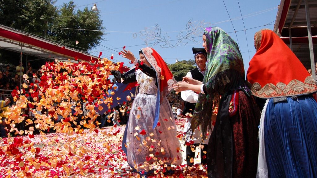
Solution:
[(182, 81), (183, 77), (186, 76), (186, 73), (195, 68), (194, 60), (182, 60), (174, 64), (168, 64), (168, 68), (171, 70), (174, 78), (177, 81)]

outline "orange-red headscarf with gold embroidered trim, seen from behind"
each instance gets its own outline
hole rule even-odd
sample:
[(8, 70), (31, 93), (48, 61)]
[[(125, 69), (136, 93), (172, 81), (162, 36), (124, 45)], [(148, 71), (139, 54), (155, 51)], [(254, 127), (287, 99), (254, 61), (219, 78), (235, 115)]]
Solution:
[(316, 92), (316, 82), (288, 46), (272, 30), (260, 33), (261, 45), (247, 72), (252, 94), (275, 98)]

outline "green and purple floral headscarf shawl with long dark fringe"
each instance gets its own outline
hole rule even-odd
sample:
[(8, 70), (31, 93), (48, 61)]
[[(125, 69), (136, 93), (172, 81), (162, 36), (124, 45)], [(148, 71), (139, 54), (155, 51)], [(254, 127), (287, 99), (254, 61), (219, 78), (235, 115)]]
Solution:
[[(203, 83), (205, 94), (200, 93), (192, 119), (192, 129), (201, 125), (205, 136), (211, 128), (214, 105), (221, 95), (237, 89), (249, 93), (245, 85), (242, 55), (236, 42), (219, 27), (205, 28), (207, 68)], [(204, 137), (203, 137), (204, 138)]]

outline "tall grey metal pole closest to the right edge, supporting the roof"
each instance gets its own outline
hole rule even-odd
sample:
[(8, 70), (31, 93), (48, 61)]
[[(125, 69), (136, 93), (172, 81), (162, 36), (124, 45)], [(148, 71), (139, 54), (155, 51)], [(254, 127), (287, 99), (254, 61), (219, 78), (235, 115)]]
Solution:
[(316, 81), (316, 67), (315, 67), (315, 60), (314, 60), (314, 48), (313, 48), (312, 30), (310, 28), (310, 17), (309, 17), (308, 0), (304, 0), (304, 1), (305, 1), (305, 10), (306, 10), (308, 43), (309, 43), (309, 53), (310, 53), (310, 65), (312, 67), (313, 78)]

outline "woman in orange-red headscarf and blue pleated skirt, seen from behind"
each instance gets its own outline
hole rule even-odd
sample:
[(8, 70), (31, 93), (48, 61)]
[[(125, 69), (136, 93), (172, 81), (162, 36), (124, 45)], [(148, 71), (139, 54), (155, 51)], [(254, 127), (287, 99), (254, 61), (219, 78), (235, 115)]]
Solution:
[(255, 34), (247, 79), (267, 99), (260, 122), (258, 177), (317, 177), (317, 91), (295, 54), (269, 29)]

